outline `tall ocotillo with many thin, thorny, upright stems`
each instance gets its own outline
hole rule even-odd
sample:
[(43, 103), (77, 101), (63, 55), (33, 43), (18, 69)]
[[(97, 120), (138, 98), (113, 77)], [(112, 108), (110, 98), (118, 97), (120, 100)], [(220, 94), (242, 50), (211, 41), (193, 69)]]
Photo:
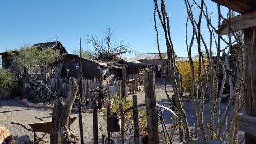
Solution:
[[(179, 69), (177, 67), (175, 61), (175, 52), (174, 45), (171, 38), (170, 31), (170, 20), (169, 15), (165, 10), (165, 1), (161, 0), (161, 3), (154, 0), (155, 9), (154, 9), (154, 21), (155, 21), (155, 30), (157, 34), (157, 46), (158, 51), (161, 57), (160, 46), (159, 46), (159, 37), (158, 37), (158, 29), (157, 29), (157, 19), (158, 17), (159, 23), (161, 24), (164, 35), (166, 48), (168, 53), (167, 66), (170, 70), (169, 77), (172, 82), (173, 92), (175, 97), (175, 102), (177, 103), (178, 115), (178, 123), (179, 123), (179, 137), (180, 142), (185, 140), (190, 140), (194, 135), (195, 139), (213, 139), (213, 140), (221, 140), (227, 141), (229, 143), (238, 143), (237, 133), (237, 113), (242, 111), (244, 105), (244, 65), (245, 60), (244, 54), (246, 53), (242, 47), (241, 34), (235, 33), (232, 31), (230, 23), (231, 23), (231, 10), (229, 10), (227, 14), (227, 18), (223, 17), (221, 14), (220, 5), (217, 5), (218, 9), (218, 28), (215, 28), (212, 25), (211, 17), (212, 15), (208, 13), (207, 5), (203, 0), (197, 2), (195, 0), (184, 0), (186, 10), (187, 10), (187, 21), (186, 21), (186, 33), (185, 33), (185, 42), (187, 47), (187, 53), (189, 58), (189, 65), (191, 69), (191, 78), (190, 78), (190, 86), (191, 86), (191, 102), (193, 104), (194, 111), (194, 131), (191, 133), (188, 129), (187, 116), (185, 113), (185, 109), (183, 107), (182, 95), (181, 95), (181, 77), (179, 74)], [(199, 10), (199, 17), (195, 17), (195, 9)], [(157, 15), (157, 16), (156, 16)], [(196, 19), (197, 18), (197, 19)], [(201, 33), (201, 25), (202, 21), (206, 21), (206, 27), (208, 33)], [(229, 35), (228, 38), (224, 38), (220, 35), (220, 31), (218, 30), (221, 25), (221, 20), (225, 20), (229, 25)], [(191, 27), (189, 31), (188, 27)], [(188, 38), (189, 33), (191, 33), (191, 38)], [(206, 42), (205, 34), (209, 34), (209, 43)], [(235, 41), (233, 42), (233, 39)], [(227, 44), (227, 47), (221, 49), (220, 43), (221, 41)], [(237, 43), (237, 49), (234, 48), (233, 44)], [(192, 49), (197, 49), (198, 51), (198, 71), (202, 71), (203, 73), (195, 73), (195, 61), (192, 58)], [(202, 53), (202, 51), (206, 52), (206, 55)], [(217, 51), (217, 55), (213, 57), (213, 51)], [(230, 74), (227, 73), (226, 70), (226, 62), (221, 61), (221, 53), (225, 53), (225, 50), (235, 52), (236, 58), (236, 81), (233, 90), (230, 90), (230, 98), (228, 104), (226, 106), (225, 111), (220, 114), (220, 101), (223, 94), (223, 89), (226, 81), (226, 76)], [(162, 59), (162, 57), (161, 57)], [(164, 61), (163, 61), (164, 62)], [(207, 63), (207, 64), (206, 64)], [(165, 73), (165, 71), (164, 71)], [(219, 82), (219, 75), (223, 73), (222, 81)], [(227, 74), (226, 74), (227, 73)], [(205, 81), (202, 81), (202, 74), (205, 77)], [(165, 89), (166, 90), (166, 89)], [(209, 121), (205, 120), (204, 114), (204, 97), (208, 95), (210, 99), (210, 114)], [(202, 96), (202, 97), (200, 97)], [(167, 98), (170, 100), (169, 95)], [(171, 100), (170, 100), (171, 102)], [(234, 109), (231, 109), (231, 103), (235, 102)], [(173, 105), (173, 103), (171, 102)], [(173, 106), (174, 107), (174, 106)], [(228, 112), (231, 111), (231, 116), (228, 118)], [(225, 125), (226, 124), (226, 125)], [(199, 130), (199, 131), (198, 131)], [(227, 138), (227, 134), (229, 133), (229, 137)], [(200, 137), (199, 137), (200, 135)]]

